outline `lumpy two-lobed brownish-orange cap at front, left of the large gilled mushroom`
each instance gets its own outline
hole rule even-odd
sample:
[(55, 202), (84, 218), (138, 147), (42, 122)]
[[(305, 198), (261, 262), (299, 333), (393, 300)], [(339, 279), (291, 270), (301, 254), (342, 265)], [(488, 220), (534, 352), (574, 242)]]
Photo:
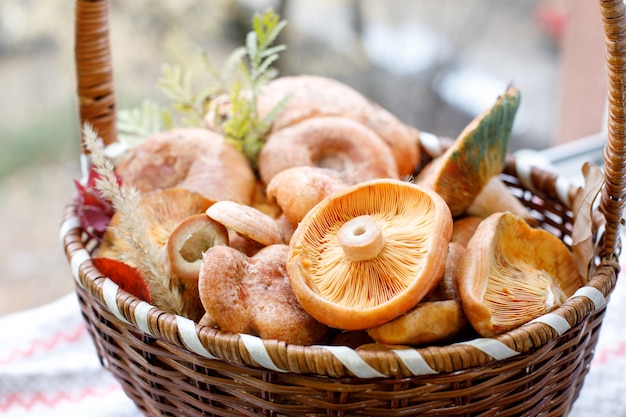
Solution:
[(298, 304), (286, 277), (287, 245), (266, 246), (248, 257), (228, 246), (209, 249), (200, 269), (202, 304), (232, 333), (310, 345), (328, 328)]

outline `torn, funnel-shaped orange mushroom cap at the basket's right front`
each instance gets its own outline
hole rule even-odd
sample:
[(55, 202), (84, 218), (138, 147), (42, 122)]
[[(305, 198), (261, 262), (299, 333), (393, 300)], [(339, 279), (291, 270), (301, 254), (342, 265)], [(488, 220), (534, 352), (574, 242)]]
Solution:
[(508, 212), (480, 223), (458, 275), (465, 314), (484, 337), (557, 308), (582, 285), (574, 256), (559, 238)]

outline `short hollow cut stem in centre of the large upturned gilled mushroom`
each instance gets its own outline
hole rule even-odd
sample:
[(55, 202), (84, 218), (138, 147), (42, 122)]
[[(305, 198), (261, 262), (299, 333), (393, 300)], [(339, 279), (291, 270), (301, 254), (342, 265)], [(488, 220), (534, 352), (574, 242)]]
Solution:
[(337, 235), (345, 254), (355, 262), (374, 259), (385, 247), (385, 237), (372, 216), (348, 220)]

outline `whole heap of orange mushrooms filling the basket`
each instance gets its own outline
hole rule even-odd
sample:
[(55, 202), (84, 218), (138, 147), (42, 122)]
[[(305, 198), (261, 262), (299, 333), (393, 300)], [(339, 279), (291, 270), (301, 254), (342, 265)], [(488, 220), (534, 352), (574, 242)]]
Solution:
[[(328, 78), (271, 81), (259, 116), (287, 94), (258, 172), (213, 125), (224, 100), (206, 126), (159, 133), (116, 165), (153, 226), (138, 238), (182, 291), (176, 313), (299, 345), (419, 346), (506, 332), (584, 284), (499, 178), (514, 87), (431, 159), (421, 132)], [(132, 265), (116, 216), (94, 256)]]

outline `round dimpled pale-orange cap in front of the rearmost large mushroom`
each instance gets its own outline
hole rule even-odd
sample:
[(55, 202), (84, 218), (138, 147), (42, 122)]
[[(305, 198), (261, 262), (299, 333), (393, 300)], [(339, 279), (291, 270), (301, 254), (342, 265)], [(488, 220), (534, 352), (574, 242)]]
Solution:
[(391, 148), (368, 127), (344, 117), (314, 117), (268, 136), (259, 153), (263, 182), (296, 166), (334, 169), (350, 183), (399, 177)]

